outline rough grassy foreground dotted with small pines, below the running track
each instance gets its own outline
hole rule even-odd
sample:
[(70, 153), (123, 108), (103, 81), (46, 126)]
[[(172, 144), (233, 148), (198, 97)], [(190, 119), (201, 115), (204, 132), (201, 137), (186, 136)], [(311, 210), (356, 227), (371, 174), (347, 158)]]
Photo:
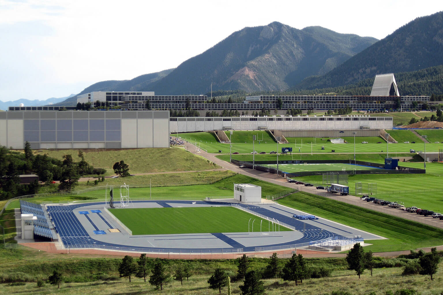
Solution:
[[(143, 279), (131, 277), (128, 279), (118, 278), (118, 265), (122, 257), (92, 257), (89, 255), (60, 255), (42, 253), (36, 250), (0, 250), (0, 262), (2, 264), (1, 277), (11, 279), (23, 277), (24, 285), (13, 286), (2, 284), (1, 294), (155, 294), (154, 287)], [(137, 260), (137, 258), (135, 259)], [(149, 263), (152, 264), (152, 259)], [(288, 259), (280, 259), (283, 265)], [(295, 282), (286, 282), (282, 279), (266, 279), (264, 289), (268, 295), (281, 294), (331, 294), (332, 291), (349, 292), (351, 295), (364, 295), (375, 292), (376, 295), (385, 295), (386, 291), (412, 288), (420, 291), (422, 295), (440, 294), (443, 289), (443, 281), (440, 277), (443, 273), (442, 263), (435, 274), (435, 280), (431, 281), (429, 276), (401, 276), (402, 268), (376, 268), (373, 276), (365, 270), (361, 279), (354, 271), (347, 270), (344, 258), (313, 258), (306, 259), (311, 267), (332, 268), (330, 277), (320, 279), (303, 280), (298, 286)], [(187, 263), (192, 269), (189, 281), (172, 280), (163, 286), (163, 293), (171, 295), (207, 295), (218, 294), (218, 290), (208, 288), (207, 280), (214, 273), (215, 268), (222, 268), (229, 276), (237, 273), (237, 264), (234, 260), (163, 260), (167, 272), (175, 273), (179, 264)], [(250, 258), (250, 269), (260, 271), (268, 263), (268, 259)], [(54, 269), (62, 272), (64, 282), (57, 286), (45, 283), (43, 287), (36, 287), (37, 278), (47, 280)], [(26, 272), (27, 274), (24, 274)], [(19, 281), (19, 280), (17, 280)], [(8, 282), (8, 281), (6, 281)], [(231, 282), (233, 294), (240, 294), (239, 286), (243, 281)], [(222, 289), (226, 294), (227, 287)]]

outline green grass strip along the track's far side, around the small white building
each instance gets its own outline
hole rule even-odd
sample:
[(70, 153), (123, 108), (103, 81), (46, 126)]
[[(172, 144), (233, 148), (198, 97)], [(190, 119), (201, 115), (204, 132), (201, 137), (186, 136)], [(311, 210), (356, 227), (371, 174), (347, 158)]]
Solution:
[[(118, 179), (118, 178), (117, 178)], [(284, 195), (294, 192), (294, 189), (286, 188), (277, 184), (257, 180), (255, 178), (236, 174), (219, 180), (213, 184), (196, 184), (184, 186), (165, 186), (165, 187), (143, 187), (129, 188), (131, 199), (155, 199), (155, 200), (202, 200), (206, 197), (211, 199), (232, 199), (234, 195), (233, 184), (250, 183), (261, 186), (262, 198), (273, 195)], [(102, 183), (101, 183), (102, 184)], [(114, 196), (120, 194), (120, 184), (114, 187)], [(109, 196), (108, 196), (109, 197)], [(28, 199), (33, 203), (66, 203), (76, 200), (105, 199), (105, 189), (85, 192), (82, 195), (58, 195), (51, 197), (39, 197)], [(8, 209), (19, 208), (19, 201), (9, 204)]]

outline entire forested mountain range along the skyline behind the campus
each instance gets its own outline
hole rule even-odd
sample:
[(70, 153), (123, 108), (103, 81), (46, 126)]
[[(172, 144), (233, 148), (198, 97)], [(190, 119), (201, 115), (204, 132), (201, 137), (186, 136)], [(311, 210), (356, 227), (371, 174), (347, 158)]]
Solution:
[[(273, 22), (246, 27), (175, 69), (132, 80), (101, 81), (91, 91), (155, 91), (156, 95), (314, 89), (355, 84), (378, 73), (443, 64), (443, 12), (417, 18), (377, 40), (323, 27), (302, 30)], [(75, 105), (76, 96), (58, 103)]]

